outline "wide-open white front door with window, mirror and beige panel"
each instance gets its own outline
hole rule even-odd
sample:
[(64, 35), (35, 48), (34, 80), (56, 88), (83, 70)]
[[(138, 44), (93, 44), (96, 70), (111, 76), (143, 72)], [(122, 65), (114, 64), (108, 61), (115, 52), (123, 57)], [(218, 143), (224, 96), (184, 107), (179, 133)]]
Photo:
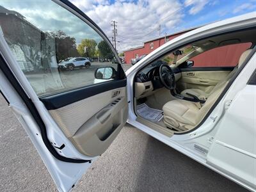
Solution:
[[(69, 191), (127, 120), (124, 70), (106, 35), (68, 1), (0, 5), (1, 93), (58, 190)], [(95, 59), (76, 67), (70, 59), (81, 56)]]

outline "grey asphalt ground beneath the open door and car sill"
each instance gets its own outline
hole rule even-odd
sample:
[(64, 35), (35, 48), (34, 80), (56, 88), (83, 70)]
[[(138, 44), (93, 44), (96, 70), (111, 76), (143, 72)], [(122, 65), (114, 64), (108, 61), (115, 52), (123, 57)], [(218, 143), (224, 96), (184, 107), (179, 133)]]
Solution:
[[(0, 96), (0, 191), (56, 191), (26, 132)], [(74, 191), (246, 191), (126, 125)]]

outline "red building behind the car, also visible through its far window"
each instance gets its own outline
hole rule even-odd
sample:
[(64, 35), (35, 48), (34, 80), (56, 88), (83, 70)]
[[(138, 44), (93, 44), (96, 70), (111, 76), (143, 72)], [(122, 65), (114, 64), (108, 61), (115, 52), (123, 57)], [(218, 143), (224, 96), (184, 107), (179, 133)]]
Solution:
[[(132, 48), (124, 51), (125, 63), (130, 64), (131, 60), (134, 58), (139, 58), (143, 54), (149, 54), (161, 45), (172, 40), (173, 38), (182, 35), (188, 31), (196, 28), (186, 29), (184, 31), (179, 31), (177, 33), (160, 36), (144, 42), (141, 47)], [(195, 67), (212, 67), (212, 66), (236, 66), (241, 54), (248, 49), (252, 44), (236, 44), (236, 45), (226, 45), (223, 47), (218, 47), (209, 51), (205, 51), (202, 54), (195, 56), (193, 61), (195, 62)], [(216, 55), (218, 57), (216, 57)]]

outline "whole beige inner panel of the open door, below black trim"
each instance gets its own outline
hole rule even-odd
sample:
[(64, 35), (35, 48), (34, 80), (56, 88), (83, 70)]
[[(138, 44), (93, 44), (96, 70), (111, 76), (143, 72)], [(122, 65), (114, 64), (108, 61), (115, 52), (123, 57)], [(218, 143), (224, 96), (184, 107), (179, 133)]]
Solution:
[(99, 156), (126, 122), (126, 95), (125, 87), (117, 88), (51, 109), (49, 113), (79, 152)]

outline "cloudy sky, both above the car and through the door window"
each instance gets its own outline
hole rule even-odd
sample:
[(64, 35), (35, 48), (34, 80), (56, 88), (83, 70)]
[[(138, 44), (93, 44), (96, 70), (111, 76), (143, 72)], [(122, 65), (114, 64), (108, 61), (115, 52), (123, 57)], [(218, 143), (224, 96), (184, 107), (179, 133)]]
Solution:
[[(70, 0), (109, 37), (117, 22), (117, 50), (143, 45), (159, 35), (202, 26), (256, 11), (256, 0)], [(76, 38), (102, 40), (92, 28), (50, 0), (2, 0), (0, 5), (22, 14), (42, 31), (64, 31)], [(161, 30), (159, 31), (159, 26)], [(160, 32), (160, 33), (159, 33)]]

